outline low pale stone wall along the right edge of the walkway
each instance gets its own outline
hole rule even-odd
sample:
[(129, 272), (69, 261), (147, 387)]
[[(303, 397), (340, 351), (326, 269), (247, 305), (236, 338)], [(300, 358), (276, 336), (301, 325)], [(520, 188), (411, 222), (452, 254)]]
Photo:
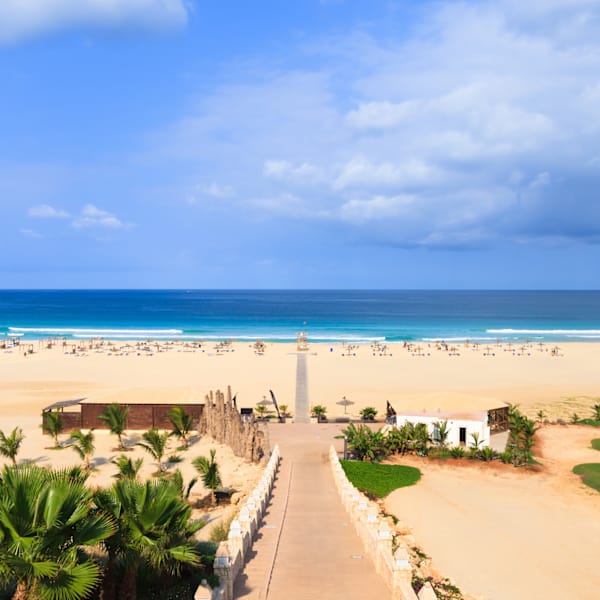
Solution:
[(330, 448), (329, 458), (346, 512), (363, 542), (365, 553), (392, 590), (393, 600), (436, 600), (435, 592), (429, 584), (423, 587), (418, 596), (415, 594), (411, 585), (413, 569), (406, 546), (400, 541), (398, 548), (393, 551), (392, 530), (380, 516), (377, 504), (350, 483), (333, 446)]

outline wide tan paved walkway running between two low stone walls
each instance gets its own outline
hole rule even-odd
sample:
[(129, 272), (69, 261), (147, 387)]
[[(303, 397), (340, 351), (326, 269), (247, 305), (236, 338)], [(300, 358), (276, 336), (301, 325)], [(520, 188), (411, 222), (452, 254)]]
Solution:
[(391, 593), (365, 555), (335, 487), (328, 450), (339, 425), (269, 425), (281, 463), (235, 598), (384, 600)]

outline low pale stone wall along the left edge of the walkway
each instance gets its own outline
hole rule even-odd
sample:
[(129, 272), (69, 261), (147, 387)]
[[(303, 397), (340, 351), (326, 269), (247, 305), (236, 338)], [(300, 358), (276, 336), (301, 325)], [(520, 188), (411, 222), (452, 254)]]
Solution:
[(215, 556), (214, 570), (221, 585), (216, 590), (200, 586), (196, 600), (233, 600), (233, 583), (244, 568), (252, 541), (260, 527), (271, 497), (273, 482), (279, 466), (279, 446), (273, 448), (260, 482), (231, 522), (227, 541), (221, 542)]

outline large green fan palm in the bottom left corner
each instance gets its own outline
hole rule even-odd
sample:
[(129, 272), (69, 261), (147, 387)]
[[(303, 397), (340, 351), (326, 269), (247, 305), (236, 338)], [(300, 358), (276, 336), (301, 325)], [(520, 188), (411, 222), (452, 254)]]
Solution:
[(88, 597), (100, 570), (83, 550), (113, 531), (92, 511), (90, 490), (36, 466), (5, 467), (0, 479), (0, 579), (16, 582), (13, 600)]

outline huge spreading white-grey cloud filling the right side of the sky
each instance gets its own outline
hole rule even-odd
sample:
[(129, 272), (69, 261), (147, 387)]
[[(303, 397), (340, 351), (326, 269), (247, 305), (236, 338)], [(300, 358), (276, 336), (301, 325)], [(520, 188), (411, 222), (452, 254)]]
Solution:
[(257, 216), (322, 219), (357, 238), (597, 243), (600, 3), (459, 1), (419, 14), (404, 38), (303, 47), (312, 70), (232, 71), (161, 148), (214, 177), (235, 163), (259, 199), (236, 201)]

